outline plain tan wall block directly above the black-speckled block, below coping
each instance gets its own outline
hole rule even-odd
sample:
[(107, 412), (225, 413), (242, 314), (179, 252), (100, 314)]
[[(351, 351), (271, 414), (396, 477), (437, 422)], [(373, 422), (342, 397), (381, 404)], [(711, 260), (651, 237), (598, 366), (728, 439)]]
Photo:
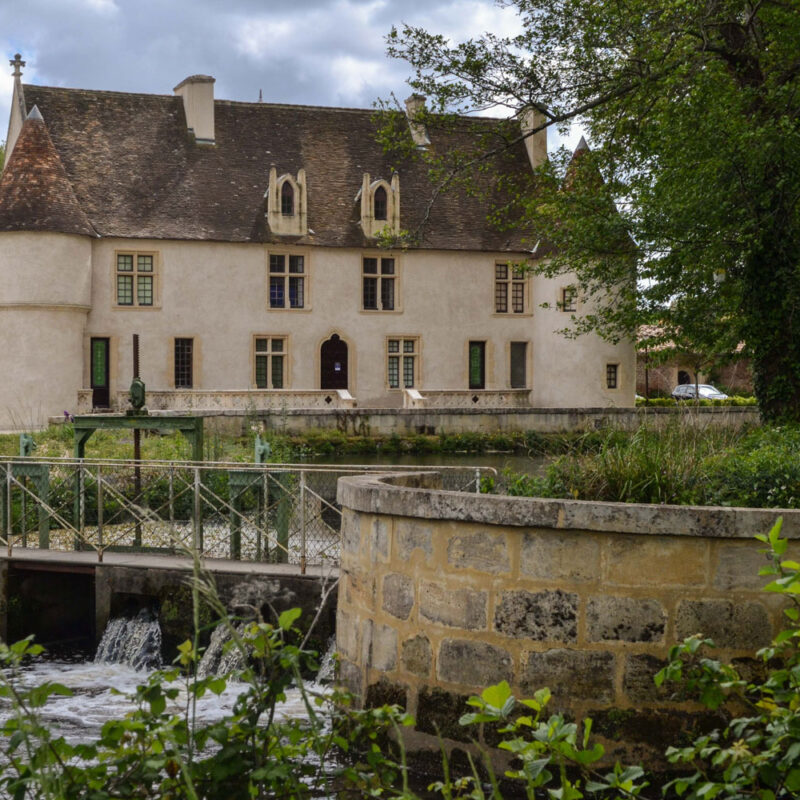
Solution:
[(526, 531), (522, 534), (520, 573), (544, 580), (597, 580), (600, 541), (588, 533)]

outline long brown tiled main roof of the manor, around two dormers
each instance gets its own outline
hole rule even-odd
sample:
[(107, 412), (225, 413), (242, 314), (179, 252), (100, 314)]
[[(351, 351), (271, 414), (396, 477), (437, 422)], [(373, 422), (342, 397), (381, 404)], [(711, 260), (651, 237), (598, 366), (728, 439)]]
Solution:
[[(101, 236), (279, 240), (266, 223), (264, 194), (272, 165), (278, 174), (306, 170), (308, 227), (300, 243), (369, 245), (355, 201), (363, 173), (400, 175), (401, 228), (422, 246), (458, 250), (529, 249), (520, 231), (487, 222), (490, 200), (456, 189), (428, 208), (432, 184), (414, 159), (386, 155), (376, 142), (373, 112), (343, 108), (215, 102), (216, 146), (195, 145), (186, 132), (180, 97), (25, 86), (28, 107), (47, 120), (56, 150), (81, 207)], [(497, 121), (478, 123), (487, 130)], [(466, 125), (429, 131), (433, 147), (462, 144)], [(19, 146), (19, 145), (17, 145)], [(502, 156), (503, 169), (529, 171), (522, 144)], [(295, 239), (295, 241), (297, 241)]]

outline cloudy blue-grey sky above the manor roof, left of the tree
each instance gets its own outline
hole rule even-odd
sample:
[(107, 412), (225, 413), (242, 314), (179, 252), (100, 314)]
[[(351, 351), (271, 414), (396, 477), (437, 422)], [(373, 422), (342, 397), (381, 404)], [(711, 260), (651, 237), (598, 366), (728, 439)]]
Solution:
[(368, 108), (409, 94), (384, 54), (404, 22), (453, 40), (518, 26), (493, 0), (0, 0), (0, 137), (14, 53), (26, 83), (170, 94), (203, 73), (221, 99)]

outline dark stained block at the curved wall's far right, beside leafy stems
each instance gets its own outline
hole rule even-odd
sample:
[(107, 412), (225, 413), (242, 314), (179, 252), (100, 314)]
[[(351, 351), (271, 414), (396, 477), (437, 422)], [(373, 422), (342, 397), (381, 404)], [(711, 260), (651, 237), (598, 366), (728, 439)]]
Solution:
[(772, 625), (761, 603), (734, 605), (728, 600), (684, 600), (678, 606), (676, 635), (710, 637), (718, 647), (754, 649), (772, 639)]

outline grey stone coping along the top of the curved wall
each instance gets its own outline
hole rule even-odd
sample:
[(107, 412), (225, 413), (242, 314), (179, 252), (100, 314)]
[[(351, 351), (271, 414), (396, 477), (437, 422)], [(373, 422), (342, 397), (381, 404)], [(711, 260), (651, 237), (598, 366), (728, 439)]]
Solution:
[(387, 472), (339, 479), (338, 502), (354, 511), (413, 519), (604, 533), (751, 539), (783, 517), (783, 535), (800, 539), (793, 509), (669, 506), (552, 500), (445, 491), (431, 472)]

